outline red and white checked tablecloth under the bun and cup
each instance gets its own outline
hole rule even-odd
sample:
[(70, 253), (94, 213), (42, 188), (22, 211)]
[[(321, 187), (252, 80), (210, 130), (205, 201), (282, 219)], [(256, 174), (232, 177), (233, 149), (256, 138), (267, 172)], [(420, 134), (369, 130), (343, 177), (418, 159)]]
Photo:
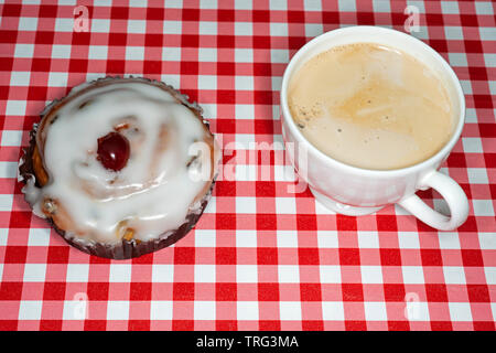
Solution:
[[(495, 11), (490, 1), (7, 0), (0, 329), (495, 330)], [(442, 168), (471, 204), (456, 232), (435, 232), (395, 206), (331, 214), (309, 190), (287, 189), (294, 174), (278, 105), (289, 58), (323, 32), (405, 31), (416, 13), (411, 34), (449, 61), (466, 95), (466, 126)], [(236, 178), (220, 178), (175, 246), (118, 261), (67, 246), (34, 216), (17, 167), (47, 101), (123, 74), (165, 81), (198, 101), (225, 149), (224, 171)], [(439, 194), (419, 194), (444, 207)]]

